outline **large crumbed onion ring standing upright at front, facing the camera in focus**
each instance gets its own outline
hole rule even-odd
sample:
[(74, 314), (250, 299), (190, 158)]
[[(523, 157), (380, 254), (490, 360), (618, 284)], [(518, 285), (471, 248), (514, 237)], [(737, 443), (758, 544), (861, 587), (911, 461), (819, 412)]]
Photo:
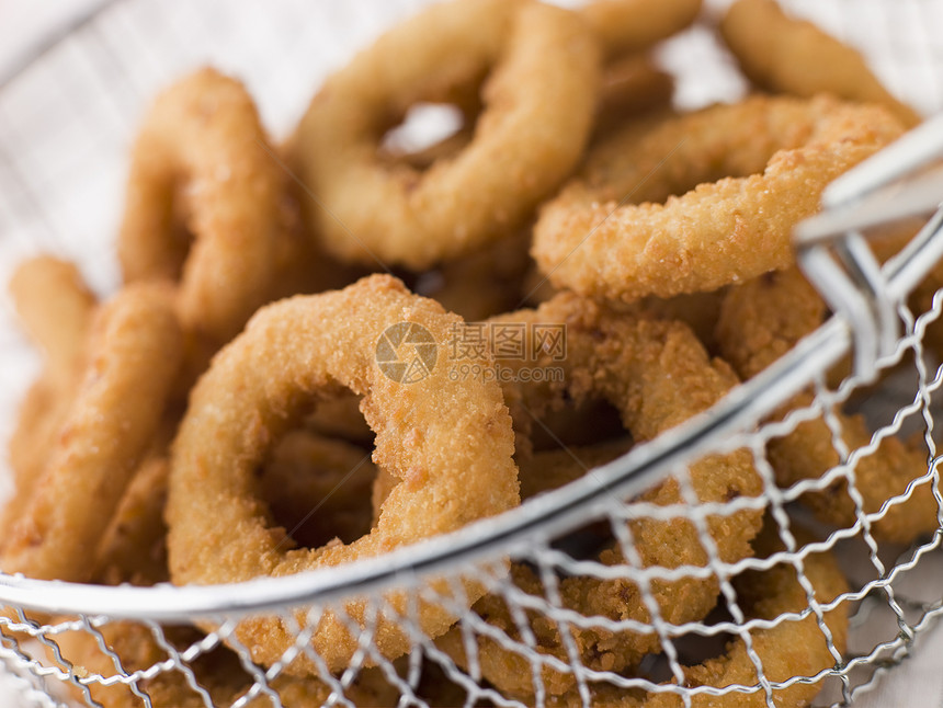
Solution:
[[(191, 393), (173, 446), (167, 511), (173, 582), (238, 582), (336, 566), (456, 529), (518, 503), (511, 420), (497, 384), (452, 381), (448, 367), (430, 370), (428, 364), (427, 376), (412, 384), (387, 377), (375, 361), (377, 342), (384, 330), (400, 322), (425, 328), (432, 341), (445, 341), (448, 329), (462, 324), (433, 301), (410, 295), (395, 278), (376, 275), (341, 292), (261, 310), (216, 356)], [(276, 359), (279, 376), (273, 378)], [(377, 433), (374, 460), (402, 481), (383, 503), (370, 534), (349, 545), (289, 551), (282, 546), (284, 533), (268, 527), (264, 510), (252, 499), (252, 470), (280, 432), (304, 413), (298, 410), (304, 403), (339, 385), (364, 397), (362, 410)], [(214, 445), (206, 444), (209, 438)], [(456, 441), (468, 446), (456, 446)], [(417, 506), (422, 514), (414, 513)], [(484, 592), (466, 585), (469, 603)], [(396, 594), (390, 602), (402, 606), (405, 598)], [(363, 621), (361, 604), (349, 603), (345, 610)], [(305, 612), (299, 613), (304, 624)], [(431, 636), (454, 621), (443, 608), (422, 603), (419, 617)], [(379, 620), (376, 631), (384, 655), (408, 650), (409, 642), (390, 620)], [(294, 642), (275, 617), (247, 619), (236, 635), (263, 664), (279, 661)], [(321, 617), (313, 644), (332, 670), (346, 665), (356, 649), (356, 640), (330, 613)], [(311, 671), (307, 663), (299, 658), (288, 670)]]

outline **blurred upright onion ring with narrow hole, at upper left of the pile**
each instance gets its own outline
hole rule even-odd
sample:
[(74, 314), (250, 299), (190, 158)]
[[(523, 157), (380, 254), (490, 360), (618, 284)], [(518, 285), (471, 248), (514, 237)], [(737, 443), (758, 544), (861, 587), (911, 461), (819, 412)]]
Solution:
[(125, 281), (179, 279), (181, 321), (211, 349), (310, 262), (268, 145), (242, 84), (203, 69), (157, 99), (134, 147), (118, 235)]

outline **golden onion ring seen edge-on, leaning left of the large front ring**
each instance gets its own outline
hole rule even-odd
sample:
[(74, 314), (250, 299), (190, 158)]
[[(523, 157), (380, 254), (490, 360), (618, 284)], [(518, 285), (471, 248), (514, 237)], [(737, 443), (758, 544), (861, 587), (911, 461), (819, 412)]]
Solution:
[(168, 288), (129, 286), (102, 306), (88, 370), (42, 481), (2, 539), (4, 572), (89, 580), (96, 545), (159, 425), (181, 338)]

